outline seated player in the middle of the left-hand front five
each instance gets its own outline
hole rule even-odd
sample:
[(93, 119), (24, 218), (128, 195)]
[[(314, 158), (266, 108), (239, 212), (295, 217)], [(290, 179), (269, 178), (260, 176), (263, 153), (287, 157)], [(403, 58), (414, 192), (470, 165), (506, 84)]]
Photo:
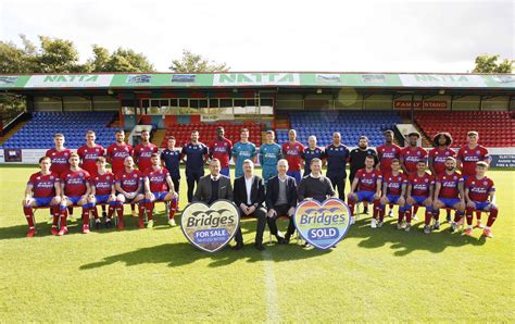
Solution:
[(91, 213), (95, 217), (95, 227), (100, 229), (100, 217), (97, 211), (97, 204), (109, 204), (108, 215), (105, 217), (105, 227), (111, 228), (111, 219), (116, 208), (116, 190), (114, 189), (114, 175), (105, 169), (105, 158), (97, 158), (97, 174), (89, 178), (91, 188), (88, 202)]

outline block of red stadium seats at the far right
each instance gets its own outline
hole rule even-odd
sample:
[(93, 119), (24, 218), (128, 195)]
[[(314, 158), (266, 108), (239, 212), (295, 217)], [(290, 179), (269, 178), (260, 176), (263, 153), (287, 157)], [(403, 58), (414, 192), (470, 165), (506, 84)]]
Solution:
[(449, 132), (454, 140), (453, 147), (466, 144), (469, 130), (479, 132), (479, 142), (486, 147), (515, 146), (515, 116), (508, 111), (431, 111), (416, 112), (415, 123), (430, 139), (440, 133)]

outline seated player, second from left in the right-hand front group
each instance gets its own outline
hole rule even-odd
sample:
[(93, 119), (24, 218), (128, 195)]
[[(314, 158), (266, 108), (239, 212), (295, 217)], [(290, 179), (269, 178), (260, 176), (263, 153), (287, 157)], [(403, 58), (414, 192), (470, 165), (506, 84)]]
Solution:
[[(406, 192), (407, 177), (405, 174), (400, 172), (401, 162), (398, 159), (391, 160), (391, 173), (387, 174), (382, 178), (382, 197), (380, 199), (380, 211), (379, 211), (379, 227), (382, 226), (385, 220), (386, 205), (394, 203), (399, 205), (399, 219), (397, 222), (397, 228), (403, 228), (404, 222), (404, 195)], [(406, 215), (406, 227), (409, 232), (412, 226), (411, 214)]]

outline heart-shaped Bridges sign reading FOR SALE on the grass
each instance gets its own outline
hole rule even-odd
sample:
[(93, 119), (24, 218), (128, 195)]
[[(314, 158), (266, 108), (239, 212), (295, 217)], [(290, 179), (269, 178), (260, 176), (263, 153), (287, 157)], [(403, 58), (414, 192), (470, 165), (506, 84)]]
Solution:
[(202, 251), (216, 252), (233, 239), (239, 223), (236, 205), (228, 200), (217, 200), (211, 205), (188, 204), (183, 211), (180, 227), (191, 245)]

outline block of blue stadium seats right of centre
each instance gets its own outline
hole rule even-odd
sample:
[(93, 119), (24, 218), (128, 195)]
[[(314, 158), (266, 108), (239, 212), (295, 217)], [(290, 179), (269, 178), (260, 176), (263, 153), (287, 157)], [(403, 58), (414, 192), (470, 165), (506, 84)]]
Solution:
[[(334, 132), (340, 132), (342, 142), (348, 146), (356, 146), (362, 135), (368, 137), (370, 146), (379, 146), (384, 142), (382, 130), (402, 123), (399, 113), (393, 111), (304, 111), (289, 115), (298, 140), (307, 144), (307, 137), (315, 135), (318, 146), (331, 144)], [(279, 144), (288, 141), (288, 129), (278, 129), (277, 140)]]

